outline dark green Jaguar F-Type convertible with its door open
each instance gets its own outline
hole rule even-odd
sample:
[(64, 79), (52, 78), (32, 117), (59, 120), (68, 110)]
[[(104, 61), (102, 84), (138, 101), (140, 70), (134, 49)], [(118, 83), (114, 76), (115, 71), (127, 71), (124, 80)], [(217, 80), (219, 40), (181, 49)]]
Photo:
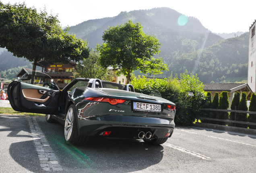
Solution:
[(8, 87), (15, 111), (46, 114), (64, 125), (67, 144), (83, 145), (89, 137), (143, 139), (159, 145), (171, 137), (175, 104), (135, 93), (132, 85), (76, 78), (62, 91), (56, 84), (12, 82)]

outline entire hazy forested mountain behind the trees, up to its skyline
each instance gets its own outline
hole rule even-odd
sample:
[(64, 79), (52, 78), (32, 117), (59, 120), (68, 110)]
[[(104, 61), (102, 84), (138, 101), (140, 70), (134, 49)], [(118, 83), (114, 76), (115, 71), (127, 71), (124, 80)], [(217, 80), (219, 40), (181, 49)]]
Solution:
[[(124, 24), (128, 20), (140, 22), (143, 31), (156, 36), (161, 43), (161, 54), (157, 56), (163, 58), (169, 71), (156, 76), (169, 77), (188, 70), (198, 74), (204, 83), (247, 80), (248, 33), (237, 34), (236, 37), (233, 34), (233, 38), (224, 39), (224, 35), (212, 33), (198, 19), (170, 8), (121, 12), (115, 17), (88, 20), (71, 26), (68, 32), (87, 40), (89, 47), (95, 49), (97, 44), (102, 44), (103, 32), (109, 26)], [(2, 54), (0, 52), (1, 61)], [(19, 63), (11, 65), (21, 66)], [(11, 68), (7, 64), (4, 66)]]

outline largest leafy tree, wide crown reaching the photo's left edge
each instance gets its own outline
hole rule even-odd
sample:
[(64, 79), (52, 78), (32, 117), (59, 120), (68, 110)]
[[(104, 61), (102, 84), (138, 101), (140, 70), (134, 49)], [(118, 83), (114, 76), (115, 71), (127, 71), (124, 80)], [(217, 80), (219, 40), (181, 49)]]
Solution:
[(57, 16), (48, 16), (45, 11), (37, 13), (25, 3), (2, 2), (0, 16), (0, 47), (34, 62), (31, 82), (37, 61), (41, 59), (68, 63), (82, 60), (89, 54), (87, 42), (63, 31)]

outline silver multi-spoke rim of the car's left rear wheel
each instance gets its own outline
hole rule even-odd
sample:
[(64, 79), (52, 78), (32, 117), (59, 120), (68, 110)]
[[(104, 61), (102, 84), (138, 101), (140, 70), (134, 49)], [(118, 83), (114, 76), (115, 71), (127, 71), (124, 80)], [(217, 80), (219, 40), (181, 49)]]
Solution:
[(72, 130), (73, 130), (73, 123), (74, 123), (74, 110), (72, 107), (70, 107), (66, 113), (66, 119), (65, 119), (65, 126), (64, 126), (64, 135), (66, 141), (69, 141)]

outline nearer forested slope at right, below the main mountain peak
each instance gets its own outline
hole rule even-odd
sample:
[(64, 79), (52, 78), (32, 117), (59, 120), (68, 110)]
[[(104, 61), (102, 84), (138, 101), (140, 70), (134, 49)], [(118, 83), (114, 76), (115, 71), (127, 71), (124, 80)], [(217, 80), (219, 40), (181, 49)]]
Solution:
[(185, 70), (196, 73), (204, 83), (246, 82), (248, 39), (249, 34), (246, 32), (202, 50), (184, 52), (169, 64), (169, 69), (178, 74)]

